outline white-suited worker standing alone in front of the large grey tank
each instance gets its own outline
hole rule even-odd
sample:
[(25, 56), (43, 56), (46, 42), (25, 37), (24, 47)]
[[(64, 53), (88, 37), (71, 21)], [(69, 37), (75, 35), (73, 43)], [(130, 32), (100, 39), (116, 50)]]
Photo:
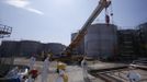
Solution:
[(83, 57), (81, 61), (81, 68), (82, 68), (83, 79), (87, 79), (88, 78), (88, 72), (87, 72), (88, 63), (87, 63), (86, 57)]

